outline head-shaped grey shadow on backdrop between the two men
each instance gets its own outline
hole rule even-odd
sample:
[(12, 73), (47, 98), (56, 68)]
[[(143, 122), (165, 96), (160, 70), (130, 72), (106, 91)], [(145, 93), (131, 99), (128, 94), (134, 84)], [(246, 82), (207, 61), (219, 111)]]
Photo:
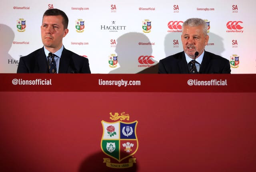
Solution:
[[(138, 65), (145, 65), (145, 66), (148, 65), (145, 63), (140, 64), (138, 62), (138, 58), (140, 56), (151, 56), (152, 46), (139, 45), (140, 42), (148, 43), (150, 42), (150, 40), (145, 34), (138, 33), (138, 32), (129, 32), (129, 33), (123, 34), (117, 39), (115, 51), (118, 55), (117, 59), (120, 67), (110, 71), (109, 74), (135, 74), (148, 68), (148, 67), (138, 67)], [(156, 64), (157, 62), (152, 57), (150, 58), (150, 60), (154, 62), (152, 65)], [(157, 67), (151, 67), (151, 68), (157, 68)]]

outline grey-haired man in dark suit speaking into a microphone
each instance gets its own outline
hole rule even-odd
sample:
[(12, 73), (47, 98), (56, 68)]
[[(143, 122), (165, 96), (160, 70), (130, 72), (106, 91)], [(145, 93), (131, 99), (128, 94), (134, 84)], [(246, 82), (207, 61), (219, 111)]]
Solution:
[(181, 35), (184, 51), (160, 60), (158, 73), (230, 74), (229, 60), (204, 50), (209, 40), (207, 28), (200, 18), (186, 20)]

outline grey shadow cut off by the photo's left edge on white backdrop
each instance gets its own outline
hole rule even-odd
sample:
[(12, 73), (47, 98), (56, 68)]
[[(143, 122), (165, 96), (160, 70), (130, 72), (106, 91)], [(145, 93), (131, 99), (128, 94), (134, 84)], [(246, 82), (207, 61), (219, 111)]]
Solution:
[(5, 24), (0, 24), (0, 38), (0, 73), (16, 73), (18, 64), (14, 62), (17, 60), (9, 54), (14, 40), (13, 30)]

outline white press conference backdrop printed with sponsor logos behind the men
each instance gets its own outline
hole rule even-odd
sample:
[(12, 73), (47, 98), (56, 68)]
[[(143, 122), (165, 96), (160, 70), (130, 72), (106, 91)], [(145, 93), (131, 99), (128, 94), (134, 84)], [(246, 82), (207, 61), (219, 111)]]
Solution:
[(182, 23), (208, 22), (205, 50), (230, 60), (232, 74), (256, 73), (254, 0), (8, 0), (0, 7), (0, 73), (42, 48), (40, 26), (50, 8), (69, 18), (65, 48), (89, 59), (92, 73), (138, 73), (182, 51)]

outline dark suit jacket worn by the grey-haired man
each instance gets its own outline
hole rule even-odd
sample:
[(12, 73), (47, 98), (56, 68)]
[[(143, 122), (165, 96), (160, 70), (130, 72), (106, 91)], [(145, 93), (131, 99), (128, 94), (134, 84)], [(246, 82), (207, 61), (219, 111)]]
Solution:
[[(200, 74), (230, 74), (230, 63), (226, 58), (204, 51)], [(179, 52), (159, 61), (159, 74), (188, 74), (185, 53)]]

